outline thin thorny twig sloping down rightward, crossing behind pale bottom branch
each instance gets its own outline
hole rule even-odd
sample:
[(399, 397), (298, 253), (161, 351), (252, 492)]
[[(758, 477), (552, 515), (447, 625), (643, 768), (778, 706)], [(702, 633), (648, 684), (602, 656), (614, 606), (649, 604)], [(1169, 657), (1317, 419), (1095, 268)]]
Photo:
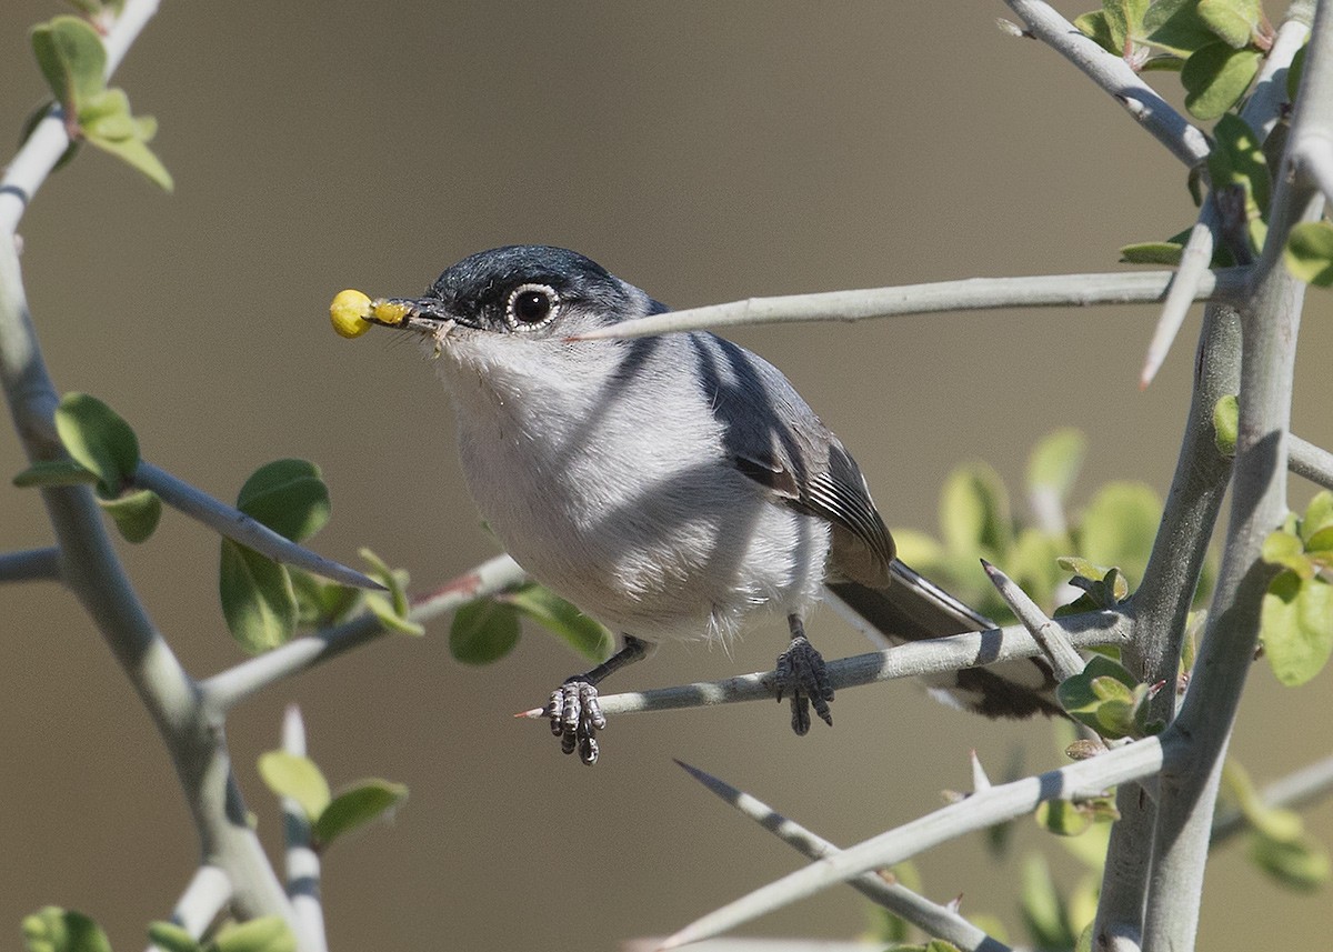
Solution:
[[(788, 820), (749, 793), (744, 793), (686, 763), (680, 760), (676, 763), (704, 787), (812, 860), (821, 860), (841, 852), (828, 840), (812, 833), (798, 823)], [(953, 909), (932, 903), (877, 871), (861, 873), (848, 880), (848, 885), (876, 905), (882, 905), (893, 915), (912, 923), (926, 935), (953, 943), (962, 952), (1010, 952), (1008, 945), (992, 939), (985, 931), (978, 929)]]

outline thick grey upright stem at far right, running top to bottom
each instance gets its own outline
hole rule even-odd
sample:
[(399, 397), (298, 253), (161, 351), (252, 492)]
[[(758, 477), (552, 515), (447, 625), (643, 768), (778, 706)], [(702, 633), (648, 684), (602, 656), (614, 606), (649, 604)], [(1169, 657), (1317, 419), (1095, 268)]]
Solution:
[[(1320, 4), (1306, 48), (1290, 141), (1306, 128), (1333, 129), (1333, 8)], [(1261, 557), (1286, 513), (1286, 461), (1296, 341), (1305, 285), (1281, 263), (1292, 227), (1322, 209), (1322, 196), (1292, 175), (1290, 152), (1277, 189), (1253, 296), (1242, 305), (1240, 432), (1232, 520), (1208, 629), (1180, 716), (1166, 729), (1188, 740), (1188, 761), (1161, 776), (1156, 851), (1144, 917), (1148, 948), (1192, 948), (1198, 928), (1208, 839), (1221, 765), (1258, 636), (1260, 605), (1273, 567)]]

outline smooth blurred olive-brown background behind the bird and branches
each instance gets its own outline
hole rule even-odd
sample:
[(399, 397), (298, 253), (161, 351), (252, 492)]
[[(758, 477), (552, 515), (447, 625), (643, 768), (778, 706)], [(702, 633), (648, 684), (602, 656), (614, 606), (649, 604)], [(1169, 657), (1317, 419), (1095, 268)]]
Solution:
[[(43, 97), (27, 29), (65, 9), (0, 7), (11, 140)], [(37, 195), (21, 232), (47, 360), (61, 391), (124, 415), (147, 459), (221, 499), (268, 460), (315, 460), (335, 503), (315, 548), (357, 564), (369, 545), (425, 589), (495, 548), (431, 368), (391, 335), (336, 337), (327, 308), (344, 287), (419, 293), (469, 252), (541, 241), (688, 307), (1114, 269), (1121, 244), (1192, 223), (1185, 169), (1054, 53), (997, 29), (1006, 13), (1000, 3), (164, 3), (115, 84), (160, 120), (153, 147), (176, 193), (85, 148)], [(1329, 309), (1312, 295), (1294, 408), (1297, 432), (1325, 447)], [(1076, 505), (1110, 479), (1164, 492), (1198, 317), (1140, 392), (1154, 319), (1148, 307), (1050, 309), (733, 336), (784, 368), (853, 449), (890, 527), (934, 531), (950, 467), (989, 460), (1017, 487), (1032, 444), (1066, 424), (1090, 437)], [(13, 439), (0, 439), (0, 472), (21, 467)], [(1304, 503), (1309, 487), (1294, 485)], [(0, 525), (5, 548), (51, 541), (36, 495), (8, 479)], [(215, 536), (168, 512), (148, 544), (123, 551), (193, 673), (240, 660), (217, 607)], [(168, 915), (197, 861), (168, 759), (60, 588), (7, 587), (3, 617), (0, 935), (16, 939), (24, 913), (56, 903), (99, 919), (117, 948), (143, 947), (145, 923)], [(866, 649), (832, 612), (814, 631), (830, 657)], [(276, 747), (291, 701), (335, 785), (373, 775), (411, 787), (391, 825), (327, 857), (335, 948), (615, 949), (802, 863), (672, 757), (840, 844), (965, 787), (973, 748), (994, 779), (1062, 763), (1045, 724), (989, 724), (896, 684), (841, 692), (836, 729), (804, 739), (776, 705), (625, 716), (589, 771), (544, 725), (509, 716), (580, 659), (532, 629), (504, 661), (464, 668), (447, 633), (436, 623), (424, 640), (381, 640), (228, 723), (271, 848), (280, 816), (253, 764)], [(734, 657), (666, 645), (611, 688), (764, 669), (784, 645), (780, 628), (753, 632)], [(1256, 667), (1233, 751), (1257, 781), (1333, 748), (1329, 679), (1285, 691)], [(1333, 839), (1333, 804), (1308, 816)], [(962, 893), (965, 912), (1014, 925), (1032, 849), (1062, 880), (1081, 875), (1020, 823), (998, 861), (980, 837), (921, 857), (925, 891)], [(862, 900), (836, 889), (749, 931), (846, 937), (865, 923)], [(1276, 936), (1318, 947), (1330, 929), (1326, 891), (1281, 891), (1238, 843), (1213, 860), (1201, 947)]]

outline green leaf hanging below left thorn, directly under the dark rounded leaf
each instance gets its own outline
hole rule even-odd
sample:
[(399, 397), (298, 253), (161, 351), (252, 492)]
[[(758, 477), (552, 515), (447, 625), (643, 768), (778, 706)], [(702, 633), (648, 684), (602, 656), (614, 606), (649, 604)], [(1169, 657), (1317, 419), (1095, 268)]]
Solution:
[(223, 616), (240, 647), (257, 655), (296, 633), (296, 592), (284, 565), (223, 540), (219, 595)]

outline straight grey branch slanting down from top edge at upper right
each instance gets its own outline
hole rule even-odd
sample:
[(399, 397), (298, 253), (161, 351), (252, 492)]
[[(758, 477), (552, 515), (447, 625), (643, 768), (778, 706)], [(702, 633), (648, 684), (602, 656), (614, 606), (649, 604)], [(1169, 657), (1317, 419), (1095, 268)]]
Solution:
[(1176, 112), (1157, 91), (1144, 83), (1120, 56), (1112, 56), (1084, 36), (1069, 20), (1040, 0), (1005, 0), (1028, 32), (1082, 71), (1110, 93), (1142, 125), (1186, 165), (1208, 157), (1208, 139)]

